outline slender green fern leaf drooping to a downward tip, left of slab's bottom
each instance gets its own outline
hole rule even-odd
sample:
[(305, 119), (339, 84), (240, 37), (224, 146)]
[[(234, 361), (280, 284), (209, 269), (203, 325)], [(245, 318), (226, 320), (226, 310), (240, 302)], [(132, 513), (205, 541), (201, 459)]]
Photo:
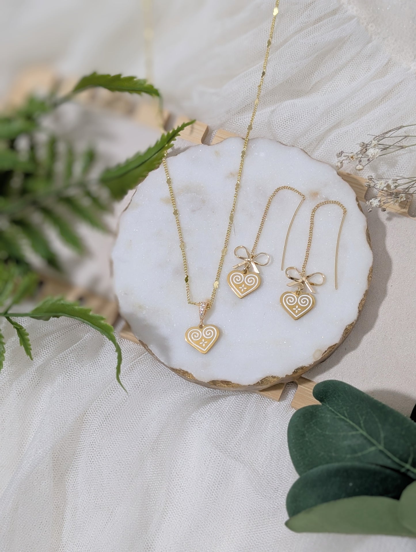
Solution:
[[(19, 315), (15, 314), (15, 316)], [(115, 370), (115, 374), (118, 383), (124, 389), (124, 386), (120, 380), (122, 351), (117, 343), (117, 339), (115, 339), (114, 328), (106, 322), (106, 319), (104, 319), (103, 316), (93, 314), (91, 309), (82, 307), (76, 302), (66, 301), (62, 297), (46, 298), (38, 306), (36, 306), (33, 311), (29, 312), (28, 316), (40, 320), (49, 320), (52, 317), (59, 318), (60, 316), (67, 316), (75, 320), (79, 320), (80, 322), (84, 322), (88, 324), (88, 326), (94, 328), (94, 330), (102, 333), (103, 336), (107, 337), (107, 339), (113, 343), (115, 351), (117, 352), (117, 368)]]

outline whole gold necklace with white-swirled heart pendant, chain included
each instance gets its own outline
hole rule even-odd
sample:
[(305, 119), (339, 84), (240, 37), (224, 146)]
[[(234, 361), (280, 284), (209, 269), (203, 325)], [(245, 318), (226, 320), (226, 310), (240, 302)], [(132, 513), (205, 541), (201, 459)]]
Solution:
[(268, 54), (269, 54), (269, 51), (270, 51), (270, 46), (271, 46), (271, 43), (272, 43), (272, 36), (273, 36), (273, 30), (275, 29), (276, 17), (277, 17), (278, 11), (279, 11), (278, 7), (279, 7), (279, 0), (276, 0), (275, 8), (273, 9), (273, 17), (272, 17), (272, 22), (271, 22), (271, 26), (270, 26), (270, 33), (268, 34), (266, 54), (265, 54), (265, 58), (264, 58), (264, 61), (263, 61), (263, 70), (262, 70), (261, 77), (260, 77), (260, 83), (259, 83), (259, 86), (257, 86), (257, 94), (256, 94), (256, 99), (254, 100), (254, 108), (253, 108), (253, 111), (252, 111), (252, 114), (251, 114), (250, 123), (247, 127), (247, 131), (246, 131), (246, 135), (245, 135), (245, 139), (244, 139), (243, 150), (241, 151), (240, 167), (239, 167), (239, 171), (238, 171), (237, 182), (235, 184), (233, 205), (231, 206), (231, 211), (230, 211), (230, 215), (229, 215), (229, 219), (228, 219), (228, 227), (227, 227), (227, 233), (225, 234), (224, 247), (221, 250), (221, 257), (220, 257), (219, 264), (218, 264), (217, 274), (215, 275), (215, 281), (214, 281), (214, 284), (213, 284), (212, 294), (211, 294), (209, 300), (207, 300), (207, 301), (199, 301), (199, 302), (191, 301), (191, 290), (189, 288), (188, 263), (187, 263), (187, 259), (186, 259), (185, 242), (183, 241), (181, 223), (180, 223), (180, 220), (179, 220), (179, 214), (178, 214), (178, 210), (177, 210), (177, 206), (176, 206), (175, 195), (173, 194), (172, 180), (169, 176), (169, 171), (168, 171), (168, 168), (167, 168), (166, 155), (163, 159), (163, 166), (164, 166), (165, 174), (166, 174), (166, 183), (167, 183), (168, 188), (169, 188), (169, 193), (170, 193), (170, 198), (171, 198), (172, 208), (173, 208), (173, 215), (175, 216), (176, 228), (177, 228), (177, 231), (178, 231), (179, 247), (180, 247), (181, 253), (182, 253), (183, 270), (185, 272), (186, 296), (187, 296), (187, 299), (188, 299), (188, 304), (189, 305), (197, 305), (198, 309), (199, 309), (199, 325), (198, 326), (192, 326), (191, 328), (188, 328), (188, 330), (185, 333), (185, 339), (190, 345), (192, 345), (192, 347), (197, 349), (197, 351), (199, 351), (200, 353), (207, 353), (219, 337), (219, 328), (217, 328), (217, 326), (214, 326), (212, 324), (204, 326), (203, 321), (204, 321), (205, 315), (207, 314), (207, 310), (210, 309), (213, 305), (213, 302), (214, 302), (214, 299), (215, 299), (215, 294), (217, 294), (217, 289), (218, 289), (218, 285), (219, 285), (219, 277), (220, 277), (220, 274), (221, 274), (221, 271), (222, 271), (222, 268), (223, 268), (224, 257), (225, 257), (225, 254), (227, 253), (228, 242), (229, 242), (230, 233), (231, 233), (231, 227), (233, 226), (233, 220), (234, 220), (235, 204), (236, 204), (236, 201), (237, 201), (237, 198), (238, 198), (238, 192), (239, 192), (239, 189), (240, 189), (240, 179), (241, 179), (241, 173), (243, 172), (244, 158), (245, 158), (245, 154), (246, 154), (246, 149), (247, 149), (247, 144), (248, 144), (248, 141), (249, 141), (250, 132), (252, 130), (252, 125), (253, 125), (254, 118), (255, 118), (256, 112), (257, 112), (257, 106), (259, 105), (261, 88), (263, 86), (264, 77), (266, 75), (267, 59), (268, 59)]

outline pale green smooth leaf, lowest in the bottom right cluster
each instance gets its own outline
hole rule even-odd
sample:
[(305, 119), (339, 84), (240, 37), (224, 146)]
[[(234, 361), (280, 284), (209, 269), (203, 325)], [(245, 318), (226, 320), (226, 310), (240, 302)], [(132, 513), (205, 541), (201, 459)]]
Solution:
[(288, 519), (296, 533), (346, 533), (416, 537), (398, 518), (398, 500), (385, 496), (353, 496), (325, 502)]

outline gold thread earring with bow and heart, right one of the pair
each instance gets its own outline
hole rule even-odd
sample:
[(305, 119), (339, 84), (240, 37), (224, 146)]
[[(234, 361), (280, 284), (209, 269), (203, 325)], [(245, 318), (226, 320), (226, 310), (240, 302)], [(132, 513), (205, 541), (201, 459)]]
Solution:
[[(335, 289), (338, 289), (339, 238), (341, 235), (341, 229), (343, 227), (344, 219), (347, 211), (344, 205), (339, 201), (327, 200), (327, 201), (321, 201), (321, 203), (318, 203), (318, 205), (315, 205), (314, 208), (312, 209), (312, 212), (310, 213), (308, 244), (306, 246), (306, 253), (305, 253), (305, 259), (302, 265), (302, 272), (296, 267), (288, 267), (285, 271), (286, 276), (289, 278), (289, 280), (292, 280), (292, 282), (289, 282), (287, 285), (291, 286), (291, 285), (297, 284), (298, 289), (297, 291), (285, 291), (285, 293), (283, 293), (280, 297), (280, 304), (282, 305), (283, 309), (285, 309), (285, 311), (292, 316), (294, 320), (298, 320), (302, 316), (306, 315), (306, 313), (312, 310), (313, 307), (315, 306), (314, 296), (310, 295), (309, 293), (302, 293), (303, 288), (306, 286), (306, 288), (310, 291), (310, 293), (314, 294), (315, 291), (313, 290), (313, 286), (319, 286), (325, 282), (325, 276), (322, 274), (322, 272), (314, 272), (313, 274), (306, 275), (306, 265), (309, 257), (310, 244), (312, 243), (313, 219), (314, 219), (315, 213), (317, 212), (320, 206), (329, 205), (329, 204), (339, 205), (340, 208), (343, 210), (343, 218), (341, 219), (341, 224), (339, 225), (338, 238), (336, 240), (336, 250), (335, 250)], [(297, 272), (296, 276), (293, 276), (293, 271)], [(319, 282), (313, 282), (311, 280), (311, 278), (313, 278), (314, 276), (320, 277)]]

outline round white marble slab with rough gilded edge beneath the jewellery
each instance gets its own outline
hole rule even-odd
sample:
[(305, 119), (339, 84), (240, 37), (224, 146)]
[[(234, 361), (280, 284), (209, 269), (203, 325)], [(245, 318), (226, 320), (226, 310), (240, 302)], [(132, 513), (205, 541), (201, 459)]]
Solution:
[[(232, 138), (215, 146), (193, 146), (168, 158), (194, 301), (208, 299), (212, 291), (242, 145), (242, 139)], [(257, 247), (257, 252), (271, 257), (270, 264), (260, 268), (260, 287), (239, 299), (227, 284), (227, 273), (236, 264), (234, 248), (251, 249), (267, 199), (281, 185), (306, 195), (289, 236), (286, 267), (302, 267), (314, 205), (333, 199), (347, 209), (338, 290), (334, 289), (334, 254), (341, 209), (325, 205), (315, 215), (307, 272), (322, 272), (327, 281), (316, 288), (314, 309), (299, 320), (280, 305), (283, 291), (294, 289), (286, 285), (289, 280), (281, 271), (281, 256), (297, 194), (279, 192), (270, 207)], [(199, 322), (198, 309), (187, 304), (175, 218), (160, 167), (139, 185), (120, 220), (113, 252), (120, 310), (136, 337), (168, 367), (185, 370), (202, 383), (225, 380), (246, 386), (268, 378), (270, 384), (270, 376), (285, 378), (299, 367), (319, 362), (356, 320), (372, 266), (366, 228), (354, 192), (333, 168), (296, 147), (251, 140), (217, 298), (205, 320), (218, 326), (221, 335), (207, 354), (201, 354), (185, 341), (187, 328)]]

